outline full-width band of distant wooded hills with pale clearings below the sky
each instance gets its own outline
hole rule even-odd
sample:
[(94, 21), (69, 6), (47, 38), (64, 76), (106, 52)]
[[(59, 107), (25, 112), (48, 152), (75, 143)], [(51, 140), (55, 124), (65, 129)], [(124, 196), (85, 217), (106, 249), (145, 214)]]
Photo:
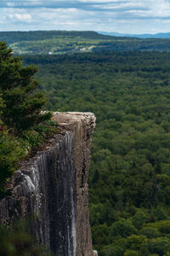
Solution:
[(144, 37), (141, 35), (141, 38), (137, 38), (134, 35), (133, 37), (118, 33), (108, 35), (93, 31), (0, 32), (0, 40), (6, 41), (15, 55), (62, 55), (133, 50), (170, 51), (170, 38), (163, 38), (163, 34), (162, 38), (149, 38), (149, 35), (148, 38), (142, 38), (142, 36)]

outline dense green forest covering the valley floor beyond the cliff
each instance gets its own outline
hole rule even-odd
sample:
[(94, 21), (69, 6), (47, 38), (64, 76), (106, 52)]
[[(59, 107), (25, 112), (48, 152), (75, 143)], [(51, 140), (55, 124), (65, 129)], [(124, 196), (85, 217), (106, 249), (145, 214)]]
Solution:
[(170, 54), (27, 55), (47, 109), (94, 112), (89, 177), (99, 256), (170, 255)]

